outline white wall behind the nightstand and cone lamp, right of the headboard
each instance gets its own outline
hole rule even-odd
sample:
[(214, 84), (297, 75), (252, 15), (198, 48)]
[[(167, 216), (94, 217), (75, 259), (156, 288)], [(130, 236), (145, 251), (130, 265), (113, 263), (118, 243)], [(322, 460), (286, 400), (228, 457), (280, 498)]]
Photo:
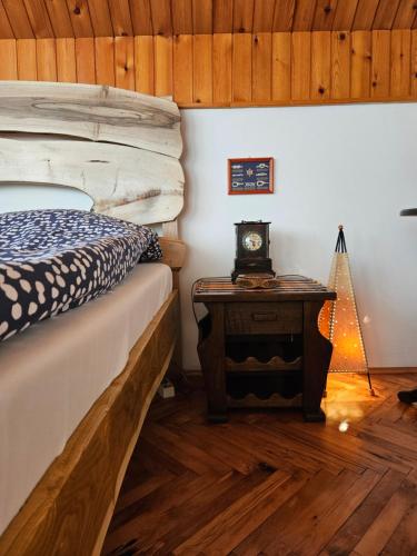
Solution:
[[(417, 366), (417, 103), (185, 110), (185, 367), (199, 367), (191, 284), (230, 272), (234, 222), (270, 220), (278, 272), (327, 281), (342, 222), (369, 365)], [(276, 160), (274, 195), (227, 195), (227, 159)]]

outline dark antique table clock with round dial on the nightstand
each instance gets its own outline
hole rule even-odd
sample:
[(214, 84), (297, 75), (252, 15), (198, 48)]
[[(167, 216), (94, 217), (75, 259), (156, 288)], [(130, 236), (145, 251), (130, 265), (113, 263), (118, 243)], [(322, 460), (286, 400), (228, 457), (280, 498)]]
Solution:
[(239, 275), (266, 274), (275, 276), (272, 261), (269, 258), (270, 222), (246, 221), (236, 226), (236, 258), (231, 281), (235, 284)]

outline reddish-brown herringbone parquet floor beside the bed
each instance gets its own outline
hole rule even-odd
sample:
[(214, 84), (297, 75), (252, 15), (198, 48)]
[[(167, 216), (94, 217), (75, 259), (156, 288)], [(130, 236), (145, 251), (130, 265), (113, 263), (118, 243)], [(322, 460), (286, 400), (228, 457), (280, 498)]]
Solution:
[(417, 555), (417, 408), (396, 399), (417, 375), (374, 384), (375, 398), (332, 375), (326, 425), (295, 411), (208, 425), (200, 389), (156, 400), (103, 554)]

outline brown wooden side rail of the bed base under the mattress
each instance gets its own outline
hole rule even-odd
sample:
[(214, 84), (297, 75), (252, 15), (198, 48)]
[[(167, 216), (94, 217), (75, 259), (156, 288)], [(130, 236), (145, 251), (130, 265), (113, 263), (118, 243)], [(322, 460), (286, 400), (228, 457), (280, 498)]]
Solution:
[(121, 483), (178, 336), (178, 292), (130, 351), (0, 538), (0, 555), (99, 555)]

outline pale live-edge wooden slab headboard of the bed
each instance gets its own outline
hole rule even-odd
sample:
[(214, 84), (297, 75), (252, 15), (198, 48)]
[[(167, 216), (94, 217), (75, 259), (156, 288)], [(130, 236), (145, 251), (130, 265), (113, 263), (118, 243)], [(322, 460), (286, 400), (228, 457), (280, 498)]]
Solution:
[(80, 189), (93, 210), (169, 222), (183, 206), (175, 102), (112, 87), (0, 81), (0, 183)]

